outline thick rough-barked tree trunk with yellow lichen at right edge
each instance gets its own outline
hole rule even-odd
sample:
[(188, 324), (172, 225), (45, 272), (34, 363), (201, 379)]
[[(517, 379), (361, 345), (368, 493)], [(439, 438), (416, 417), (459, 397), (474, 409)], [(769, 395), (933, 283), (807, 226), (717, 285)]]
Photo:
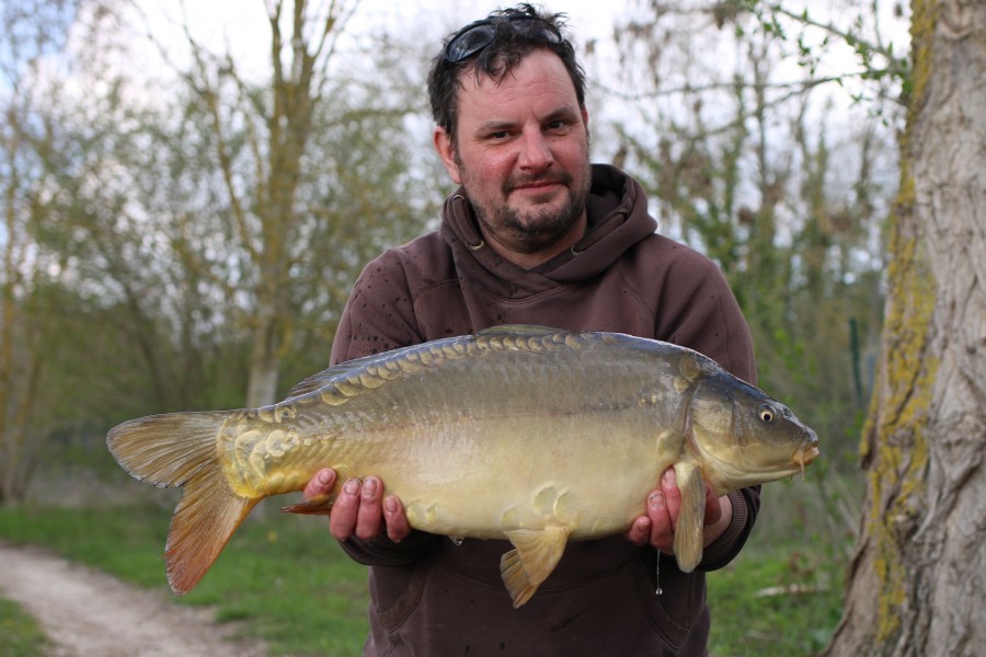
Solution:
[(986, 646), (986, 2), (913, 2), (867, 503), (828, 654)]

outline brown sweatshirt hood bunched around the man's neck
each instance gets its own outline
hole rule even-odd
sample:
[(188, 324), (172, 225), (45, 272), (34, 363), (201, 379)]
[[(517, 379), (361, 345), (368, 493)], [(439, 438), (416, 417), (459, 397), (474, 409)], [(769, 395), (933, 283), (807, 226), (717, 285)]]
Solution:
[(483, 243), (475, 212), (461, 188), (445, 201), (440, 233), (471, 285), (501, 298), (521, 298), (599, 275), (657, 229), (640, 183), (608, 164), (593, 164), (586, 215), (582, 239), (534, 269), (518, 267)]

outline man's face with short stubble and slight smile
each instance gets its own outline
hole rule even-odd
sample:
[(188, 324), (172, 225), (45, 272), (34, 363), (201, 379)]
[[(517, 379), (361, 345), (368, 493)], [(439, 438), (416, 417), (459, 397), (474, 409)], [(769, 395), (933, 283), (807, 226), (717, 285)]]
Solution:
[(535, 50), (498, 82), (471, 69), (460, 81), (458, 143), (438, 128), (435, 146), (484, 237), (520, 254), (574, 243), (591, 184), (587, 114), (561, 59)]

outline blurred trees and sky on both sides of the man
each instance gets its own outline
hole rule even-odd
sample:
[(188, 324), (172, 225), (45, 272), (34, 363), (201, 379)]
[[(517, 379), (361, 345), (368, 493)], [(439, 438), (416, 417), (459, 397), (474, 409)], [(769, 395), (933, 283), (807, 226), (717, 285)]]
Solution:
[[(388, 33), (357, 28), (355, 3), (243, 3), (265, 24), (256, 66), (153, 7), (4, 4), (8, 502), (53, 450), (104, 458), (122, 419), (268, 403), (325, 367), (362, 267), (434, 227), (449, 191), (424, 76), (459, 16)], [(572, 27), (594, 159), (726, 273), (761, 385), (825, 445), (819, 494), (784, 506), (848, 558), (904, 77), (875, 9), (768, 9), (633, 1), (611, 37)], [(836, 51), (840, 32), (857, 46)]]

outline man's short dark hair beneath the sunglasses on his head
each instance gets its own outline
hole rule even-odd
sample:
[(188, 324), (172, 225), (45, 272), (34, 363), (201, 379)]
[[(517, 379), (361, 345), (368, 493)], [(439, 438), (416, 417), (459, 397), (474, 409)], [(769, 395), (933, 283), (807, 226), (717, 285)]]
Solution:
[[(538, 36), (536, 30), (515, 30), (513, 25), (515, 21), (524, 21), (525, 25), (534, 24), (542, 27), (541, 36)], [(528, 21), (535, 23), (528, 23)], [(448, 134), (452, 143), (456, 143), (457, 137), (458, 90), (461, 87), (459, 76), (468, 68), (472, 69), (477, 80), (485, 74), (498, 81), (520, 64), (527, 55), (534, 50), (546, 48), (562, 60), (572, 79), (572, 84), (575, 85), (578, 106), (580, 108), (585, 107), (585, 71), (575, 59), (575, 48), (565, 38), (549, 39), (543, 36), (549, 31), (561, 36), (565, 22), (566, 16), (563, 13), (541, 13), (525, 2), (516, 8), (497, 9), (483, 21), (470, 23), (445, 39), (442, 50), (432, 60), (432, 68), (428, 71), (428, 100), (432, 103), (432, 116), (435, 124)], [(460, 34), (481, 23), (493, 26), (493, 36), (490, 43), (474, 55), (460, 61), (451, 61), (446, 55), (448, 45)]]

